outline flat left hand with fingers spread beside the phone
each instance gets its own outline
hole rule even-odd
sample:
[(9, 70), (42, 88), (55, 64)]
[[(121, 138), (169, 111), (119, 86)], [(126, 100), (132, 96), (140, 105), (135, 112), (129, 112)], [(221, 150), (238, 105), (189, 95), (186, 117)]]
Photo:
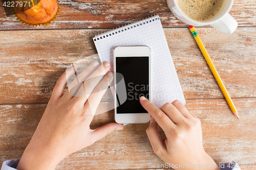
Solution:
[[(70, 90), (63, 94), (67, 79), (74, 74), (75, 69), (73, 67), (67, 70), (57, 81), (45, 113), (17, 169), (54, 169), (69, 154), (123, 129), (123, 125), (117, 123), (90, 129), (100, 100), (113, 81), (112, 72), (106, 74), (110, 64), (105, 62), (99, 66), (99, 63), (94, 61), (71, 83), (72, 93), (81, 92), (83, 95), (71, 95)], [(82, 83), (77, 84), (77, 80)]]

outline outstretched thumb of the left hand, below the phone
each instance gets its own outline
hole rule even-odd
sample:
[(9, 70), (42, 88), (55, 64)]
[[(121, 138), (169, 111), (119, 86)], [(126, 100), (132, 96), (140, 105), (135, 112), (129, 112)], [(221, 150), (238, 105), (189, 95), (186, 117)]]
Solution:
[(106, 135), (109, 135), (116, 130), (123, 130), (123, 125), (117, 124), (117, 123), (106, 124), (106, 125), (99, 127), (91, 132), (92, 140), (93, 140), (93, 142), (96, 142), (97, 140), (102, 139)]

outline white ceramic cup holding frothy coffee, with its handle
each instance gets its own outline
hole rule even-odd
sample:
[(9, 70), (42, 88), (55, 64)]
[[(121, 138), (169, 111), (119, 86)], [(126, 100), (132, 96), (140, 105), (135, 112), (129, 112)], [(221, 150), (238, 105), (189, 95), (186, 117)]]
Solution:
[(211, 25), (216, 28), (220, 32), (231, 34), (233, 33), (237, 27), (238, 22), (228, 13), (233, 5), (234, 0), (227, 0), (226, 5), (222, 8), (222, 11), (216, 15), (214, 18), (211, 18), (207, 21), (197, 21), (189, 18), (179, 7), (179, 0), (167, 0), (167, 5), (170, 11), (180, 19), (182, 22), (187, 23), (191, 26), (205, 26)]

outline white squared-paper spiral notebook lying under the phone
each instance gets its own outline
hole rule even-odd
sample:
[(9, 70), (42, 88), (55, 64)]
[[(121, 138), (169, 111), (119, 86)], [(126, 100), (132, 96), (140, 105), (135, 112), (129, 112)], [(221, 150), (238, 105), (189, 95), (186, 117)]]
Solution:
[[(157, 107), (175, 100), (185, 104), (159, 15), (99, 34), (93, 38), (93, 41), (100, 61), (111, 63), (112, 71), (115, 47), (149, 46), (151, 48), (151, 102)], [(114, 94), (113, 85), (111, 90)]]

